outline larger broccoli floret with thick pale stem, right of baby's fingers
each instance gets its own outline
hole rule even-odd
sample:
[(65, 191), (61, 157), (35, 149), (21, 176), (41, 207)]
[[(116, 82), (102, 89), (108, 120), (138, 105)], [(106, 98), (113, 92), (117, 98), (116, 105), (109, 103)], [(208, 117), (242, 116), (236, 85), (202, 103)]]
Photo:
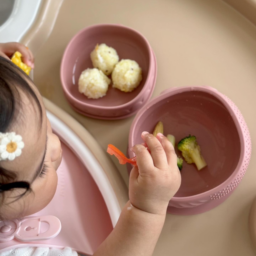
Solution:
[(196, 136), (189, 135), (178, 143), (178, 150), (182, 152), (187, 163), (195, 163), (198, 170), (201, 170), (207, 163), (201, 156), (200, 147), (197, 144)]

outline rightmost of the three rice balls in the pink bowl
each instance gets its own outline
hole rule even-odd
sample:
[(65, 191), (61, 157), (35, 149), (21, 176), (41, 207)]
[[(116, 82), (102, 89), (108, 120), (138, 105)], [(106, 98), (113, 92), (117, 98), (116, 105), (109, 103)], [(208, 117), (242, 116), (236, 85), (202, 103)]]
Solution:
[(142, 70), (135, 60), (122, 59), (112, 72), (113, 87), (126, 93), (137, 88), (141, 80)]

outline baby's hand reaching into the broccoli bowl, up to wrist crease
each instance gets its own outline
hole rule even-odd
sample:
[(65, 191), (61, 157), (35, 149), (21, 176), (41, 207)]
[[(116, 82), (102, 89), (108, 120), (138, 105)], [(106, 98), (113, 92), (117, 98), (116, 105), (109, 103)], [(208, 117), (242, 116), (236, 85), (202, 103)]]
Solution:
[(129, 198), (133, 206), (153, 214), (166, 214), (169, 200), (181, 184), (177, 156), (169, 140), (161, 133), (154, 137), (143, 132), (143, 145), (135, 145), (137, 167), (133, 167), (129, 180)]

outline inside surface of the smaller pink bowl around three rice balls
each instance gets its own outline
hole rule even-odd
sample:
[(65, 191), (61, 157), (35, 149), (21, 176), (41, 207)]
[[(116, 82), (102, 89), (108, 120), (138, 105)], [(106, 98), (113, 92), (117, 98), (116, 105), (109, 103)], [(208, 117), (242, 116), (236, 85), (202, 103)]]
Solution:
[[(93, 68), (90, 53), (96, 44), (105, 43), (116, 49), (119, 59), (132, 59), (138, 62), (142, 68), (143, 80), (131, 93), (124, 93), (109, 85), (106, 96), (100, 99), (88, 99), (78, 91), (78, 80), (81, 72), (87, 68)], [(93, 26), (77, 34), (66, 49), (63, 57), (61, 75), (62, 86), (66, 87), (81, 104), (95, 106), (118, 106), (125, 104), (135, 98), (142, 90), (147, 79), (150, 50), (144, 38), (133, 30), (116, 25)], [(109, 76), (111, 78), (111, 75)]]

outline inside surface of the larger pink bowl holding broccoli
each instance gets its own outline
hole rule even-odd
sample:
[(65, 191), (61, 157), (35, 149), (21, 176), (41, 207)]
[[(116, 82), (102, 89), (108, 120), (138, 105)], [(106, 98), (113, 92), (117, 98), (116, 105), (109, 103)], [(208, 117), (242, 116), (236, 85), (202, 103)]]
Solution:
[(216, 97), (201, 91), (187, 91), (167, 97), (141, 116), (134, 128), (134, 141), (142, 142), (141, 132), (153, 132), (156, 123), (163, 122), (164, 135), (176, 138), (175, 152), (181, 156), (177, 143), (189, 134), (197, 137), (201, 154), (208, 166), (197, 170), (183, 161), (181, 187), (175, 197), (201, 194), (222, 184), (236, 169), (241, 145), (234, 121)]

